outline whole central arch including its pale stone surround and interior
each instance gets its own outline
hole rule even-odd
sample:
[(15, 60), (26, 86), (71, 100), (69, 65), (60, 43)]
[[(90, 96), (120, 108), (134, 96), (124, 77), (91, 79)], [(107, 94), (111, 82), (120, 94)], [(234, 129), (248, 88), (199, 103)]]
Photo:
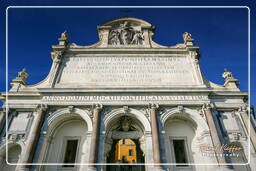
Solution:
[[(146, 133), (151, 132), (151, 127), (148, 118), (142, 112), (136, 109), (130, 109), (124, 111), (123, 108), (115, 109), (108, 113), (104, 118), (105, 125), (105, 152), (104, 158), (106, 163), (124, 163), (126, 161), (126, 154), (123, 154), (120, 160), (117, 159), (117, 148), (125, 146), (126, 142), (134, 144), (136, 149), (136, 159), (134, 163), (145, 163), (146, 157)], [(120, 142), (121, 143), (120, 145)], [(133, 142), (133, 143), (132, 143)], [(129, 147), (132, 148), (132, 147)], [(124, 151), (128, 150), (128, 147), (124, 148)], [(122, 153), (125, 153), (125, 152)], [(132, 151), (132, 150), (131, 150)], [(120, 151), (119, 151), (120, 152)], [(127, 151), (128, 152), (128, 151)], [(120, 157), (120, 156), (119, 156)], [(125, 167), (125, 166), (124, 166)], [(131, 167), (131, 166), (130, 166)], [(113, 170), (111, 166), (108, 166), (106, 170)], [(119, 168), (122, 169), (122, 168)], [(145, 170), (144, 166), (138, 166), (137, 170)]]

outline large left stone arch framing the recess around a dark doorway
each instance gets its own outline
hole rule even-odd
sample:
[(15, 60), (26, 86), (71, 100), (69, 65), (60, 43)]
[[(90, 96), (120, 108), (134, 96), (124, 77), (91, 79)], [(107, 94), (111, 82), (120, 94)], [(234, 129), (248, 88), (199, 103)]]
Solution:
[[(76, 129), (83, 130), (84, 132), (81, 133), (79, 131), (75, 132), (75, 134), (72, 133), (71, 125), (74, 124), (74, 122), (77, 122), (79, 124), (76, 124)], [(82, 129), (81, 124), (84, 126)], [(42, 142), (40, 146), (38, 146), (38, 158), (36, 159), (39, 163), (51, 163), (52, 161), (55, 162), (56, 160), (61, 160), (61, 158), (58, 156), (58, 158), (53, 157), (53, 153), (49, 151), (51, 148), (57, 149), (58, 155), (63, 155), (61, 153), (61, 148), (64, 144), (64, 135), (63, 130), (65, 127), (69, 128), (66, 132), (67, 137), (78, 137), (79, 142), (81, 143), (79, 145), (79, 148), (81, 147), (81, 150), (79, 150), (78, 159), (81, 163), (87, 163), (88, 162), (88, 156), (85, 155), (88, 153), (88, 149), (90, 148), (90, 145), (88, 144), (91, 139), (91, 132), (92, 132), (92, 119), (90, 118), (90, 112), (88, 110), (79, 109), (79, 108), (62, 108), (55, 112), (53, 112), (47, 120), (45, 120), (43, 125), (43, 133), (41, 134), (40, 141)], [(61, 133), (59, 132), (61, 131)], [(58, 134), (59, 133), (59, 134)], [(57, 138), (56, 138), (57, 137)], [(60, 147), (56, 146), (56, 142), (61, 144)], [(55, 144), (55, 145), (54, 145)], [(58, 143), (57, 143), (58, 144)], [(89, 146), (88, 146), (89, 145)], [(55, 148), (57, 147), (57, 148)], [(57, 154), (57, 153), (56, 153)], [(52, 160), (54, 159), (54, 160)], [(55, 162), (56, 163), (56, 162)], [(58, 163), (58, 162), (57, 162)], [(81, 166), (82, 168), (86, 168), (87, 166)], [(56, 170), (57, 166), (38, 166), (39, 170)]]

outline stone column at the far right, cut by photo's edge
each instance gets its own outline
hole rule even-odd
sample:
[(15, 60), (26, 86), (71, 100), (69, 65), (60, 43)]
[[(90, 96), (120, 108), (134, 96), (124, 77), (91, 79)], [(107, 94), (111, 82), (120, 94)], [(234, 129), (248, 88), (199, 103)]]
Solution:
[[(241, 116), (241, 118), (243, 120), (244, 126), (245, 126), (245, 128), (247, 130), (248, 136), (251, 139), (251, 142), (252, 142), (252, 145), (254, 147), (254, 150), (256, 151), (256, 133), (255, 133), (255, 130), (253, 129), (251, 121), (248, 118), (248, 114), (246, 112), (246, 109), (240, 108), (239, 109), (239, 113), (240, 113), (240, 116)], [(249, 130), (250, 130), (250, 135), (249, 135)]]

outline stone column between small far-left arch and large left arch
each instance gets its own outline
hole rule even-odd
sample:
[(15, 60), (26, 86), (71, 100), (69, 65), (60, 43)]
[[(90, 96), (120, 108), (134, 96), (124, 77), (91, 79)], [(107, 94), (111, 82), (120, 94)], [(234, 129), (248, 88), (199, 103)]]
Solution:
[[(30, 132), (25, 144), (25, 150), (23, 152), (21, 163), (32, 163), (33, 157), (36, 151), (36, 146), (40, 137), (41, 127), (44, 122), (46, 106), (40, 105), (36, 108), (34, 120), (30, 128)], [(20, 170), (28, 171), (31, 165), (22, 165)]]

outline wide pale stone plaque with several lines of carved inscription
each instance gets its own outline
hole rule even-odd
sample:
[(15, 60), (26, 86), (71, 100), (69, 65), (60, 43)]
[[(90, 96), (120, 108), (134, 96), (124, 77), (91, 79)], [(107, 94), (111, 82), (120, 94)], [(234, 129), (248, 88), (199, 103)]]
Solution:
[(59, 83), (88, 86), (193, 85), (186, 56), (76, 56), (64, 58)]

